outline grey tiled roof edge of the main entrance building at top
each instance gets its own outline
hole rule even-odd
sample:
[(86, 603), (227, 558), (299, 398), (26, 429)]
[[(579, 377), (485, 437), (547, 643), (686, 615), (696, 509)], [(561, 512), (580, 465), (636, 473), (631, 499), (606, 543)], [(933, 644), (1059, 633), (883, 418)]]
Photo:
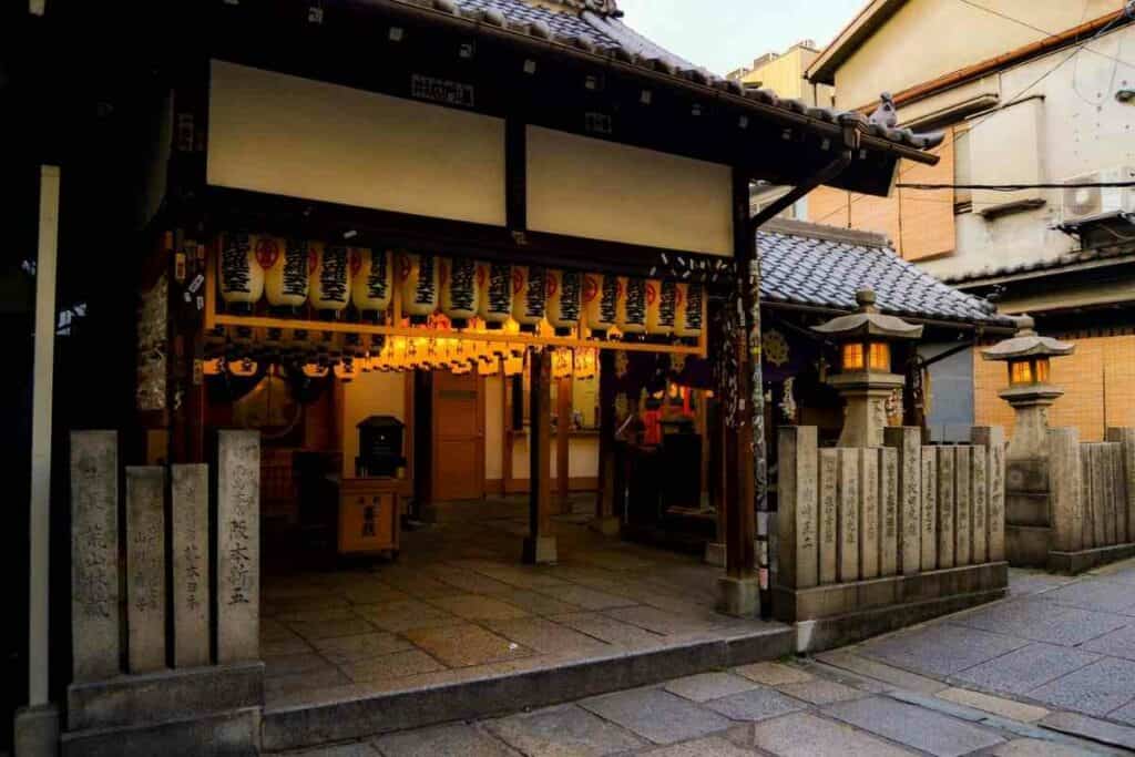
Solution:
[[(378, 0), (372, 0), (378, 1)], [(390, 0), (402, 5), (430, 8), (471, 22), (507, 28), (539, 40), (550, 41), (566, 48), (609, 56), (624, 64), (640, 66), (667, 74), (695, 84), (743, 96), (754, 102), (779, 108), (797, 116), (829, 124), (854, 125), (868, 136), (885, 142), (931, 150), (942, 142), (941, 134), (915, 134), (908, 128), (888, 128), (871, 124), (866, 116), (856, 111), (839, 111), (833, 108), (815, 108), (800, 100), (781, 100), (772, 90), (750, 90), (740, 83), (722, 78), (697, 67), (664, 48), (646, 39), (621, 20), (620, 14), (590, 8), (600, 2), (578, 0), (578, 11), (555, 11), (539, 8), (526, 0)], [(608, 6), (614, 3), (608, 2)]]

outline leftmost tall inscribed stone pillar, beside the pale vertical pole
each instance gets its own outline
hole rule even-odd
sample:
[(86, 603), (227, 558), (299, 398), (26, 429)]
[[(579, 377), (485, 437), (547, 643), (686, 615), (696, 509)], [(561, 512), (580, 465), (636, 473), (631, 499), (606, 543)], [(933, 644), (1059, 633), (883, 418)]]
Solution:
[(118, 435), (73, 431), (72, 672), (75, 682), (119, 673)]

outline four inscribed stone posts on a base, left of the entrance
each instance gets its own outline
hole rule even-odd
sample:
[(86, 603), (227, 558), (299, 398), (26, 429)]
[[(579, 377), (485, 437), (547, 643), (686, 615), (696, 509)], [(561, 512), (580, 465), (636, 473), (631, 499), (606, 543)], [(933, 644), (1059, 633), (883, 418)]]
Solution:
[(259, 743), (260, 438), (217, 446), (212, 507), (209, 465), (127, 466), (120, 503), (116, 432), (72, 434), (65, 755)]

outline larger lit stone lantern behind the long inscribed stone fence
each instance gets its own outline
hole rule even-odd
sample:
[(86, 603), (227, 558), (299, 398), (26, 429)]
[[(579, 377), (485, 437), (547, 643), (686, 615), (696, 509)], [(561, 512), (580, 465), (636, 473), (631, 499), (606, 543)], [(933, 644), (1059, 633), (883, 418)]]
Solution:
[(840, 446), (881, 447), (886, 401), (905, 381), (901, 375), (891, 372), (891, 344), (920, 338), (923, 327), (881, 314), (871, 289), (860, 289), (855, 298), (857, 312), (833, 318), (813, 330), (840, 345), (840, 370), (827, 379), (847, 403)]

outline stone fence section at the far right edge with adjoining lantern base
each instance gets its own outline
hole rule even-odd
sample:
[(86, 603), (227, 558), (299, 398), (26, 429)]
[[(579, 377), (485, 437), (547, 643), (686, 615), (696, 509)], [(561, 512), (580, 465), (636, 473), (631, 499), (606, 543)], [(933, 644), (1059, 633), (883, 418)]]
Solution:
[[(1076, 429), (1049, 429), (1046, 480), (1035, 493), (1020, 490), (1025, 477), (1015, 481), (1010, 520), (1034, 564), (1078, 573), (1135, 555), (1135, 429), (1108, 429), (1105, 438), (1082, 444)], [(1028, 497), (1048, 506), (1026, 508)]]

